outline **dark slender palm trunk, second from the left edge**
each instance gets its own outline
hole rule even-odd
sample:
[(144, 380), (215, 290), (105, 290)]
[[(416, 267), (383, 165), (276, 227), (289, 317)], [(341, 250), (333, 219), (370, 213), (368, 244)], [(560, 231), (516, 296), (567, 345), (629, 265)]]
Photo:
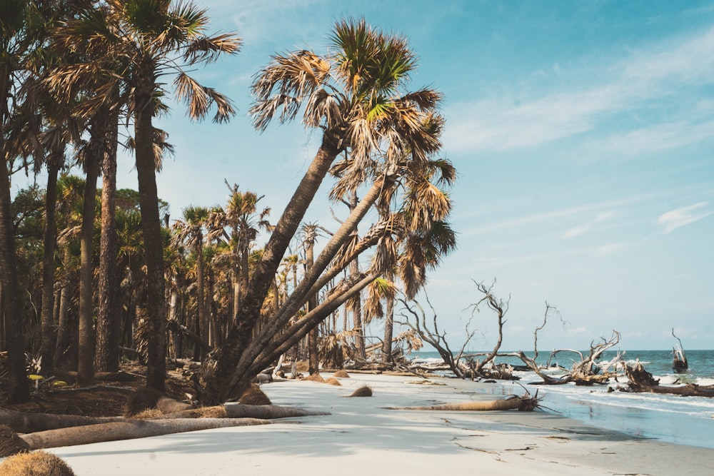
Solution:
[(54, 346), (56, 332), (54, 330), (54, 253), (56, 248), (56, 206), (57, 206), (57, 174), (61, 166), (61, 153), (49, 157), (47, 161), (47, 190), (45, 192), (45, 228), (42, 254), (42, 310), (41, 310), (41, 344), (40, 355), (42, 368), (46, 373), (54, 371)]

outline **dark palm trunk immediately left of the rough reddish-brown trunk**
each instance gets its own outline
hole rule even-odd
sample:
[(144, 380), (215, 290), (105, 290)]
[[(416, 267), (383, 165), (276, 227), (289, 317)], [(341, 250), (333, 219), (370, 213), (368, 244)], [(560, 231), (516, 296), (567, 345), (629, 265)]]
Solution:
[[(103, 136), (101, 136), (103, 138)], [(101, 138), (93, 137), (94, 140)], [(96, 181), (99, 176), (99, 156), (95, 151), (87, 155), (84, 209), (81, 228), (81, 270), (79, 272), (79, 358), (77, 382), (94, 384), (94, 303), (92, 283), (92, 240), (94, 238), (94, 208), (96, 206)]]

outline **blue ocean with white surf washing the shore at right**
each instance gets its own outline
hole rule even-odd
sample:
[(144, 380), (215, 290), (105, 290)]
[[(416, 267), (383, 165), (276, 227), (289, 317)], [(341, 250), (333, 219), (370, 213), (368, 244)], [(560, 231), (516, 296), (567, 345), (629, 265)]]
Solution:
[[(558, 364), (569, 368), (572, 364), (572, 360), (568, 359), (570, 355), (573, 354), (559, 354), (556, 359)], [(587, 353), (583, 352), (583, 355)], [(672, 370), (672, 350), (630, 350), (623, 358), (627, 361), (640, 360), (645, 370), (660, 379), (660, 385), (714, 385), (714, 350), (686, 350), (686, 355), (689, 370), (680, 374)], [(540, 360), (545, 363), (548, 356), (548, 352), (541, 351), (539, 363)], [(417, 352), (410, 357), (415, 360), (441, 361), (436, 352)], [(615, 352), (605, 352), (600, 361), (607, 362), (614, 357)], [(496, 362), (522, 364), (521, 360), (513, 358), (496, 358)], [(540, 381), (537, 375), (532, 372), (516, 372), (516, 375), (521, 380), (498, 380), (490, 393), (521, 395), (523, 385), (531, 395), (538, 391), (538, 397), (542, 398), (540, 404), (546, 412), (555, 412), (595, 427), (618, 430), (637, 437), (714, 448), (714, 398), (619, 391), (608, 393), (608, 387), (616, 389), (618, 385), (625, 385), (626, 379), (621, 379), (620, 383), (611, 380), (608, 385), (581, 387), (572, 383), (531, 385)]]

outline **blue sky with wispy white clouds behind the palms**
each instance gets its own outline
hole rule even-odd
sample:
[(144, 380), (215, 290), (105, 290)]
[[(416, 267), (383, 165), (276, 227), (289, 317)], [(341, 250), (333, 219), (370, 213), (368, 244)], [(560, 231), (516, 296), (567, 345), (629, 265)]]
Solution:
[[(541, 331), (541, 350), (588, 348), (613, 329), (622, 349), (666, 349), (672, 328), (685, 348), (713, 348), (714, 2), (198, 4), (212, 31), (244, 44), (193, 76), (239, 111), (227, 125), (191, 123), (177, 105), (161, 120), (176, 146), (159, 177), (172, 218), (224, 203), (226, 178), (264, 194), (276, 220), (319, 135), (299, 123), (253, 131), (252, 76), (274, 52), (325, 51), (336, 20), (364, 16), (409, 39), (413, 88), (445, 96), (459, 245), (427, 292), (453, 345), (479, 298), (473, 280), (496, 278), (511, 296), (503, 348), (532, 348), (545, 300), (564, 323)], [(120, 173), (136, 187), (129, 156)], [(307, 220), (330, 228), (325, 197)], [(471, 347), (490, 348), (494, 327), (476, 314)]]

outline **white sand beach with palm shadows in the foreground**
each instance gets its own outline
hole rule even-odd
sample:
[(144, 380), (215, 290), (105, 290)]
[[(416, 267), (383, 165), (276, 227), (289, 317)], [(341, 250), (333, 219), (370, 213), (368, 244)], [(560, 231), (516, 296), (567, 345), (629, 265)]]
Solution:
[[(635, 439), (544, 412), (383, 409), (472, 400), (464, 393), (490, 385), (418, 381), (353, 374), (341, 387), (270, 383), (263, 391), (274, 404), (331, 415), (50, 451), (79, 476), (712, 474), (714, 450)], [(373, 397), (345, 398), (364, 384)]]

